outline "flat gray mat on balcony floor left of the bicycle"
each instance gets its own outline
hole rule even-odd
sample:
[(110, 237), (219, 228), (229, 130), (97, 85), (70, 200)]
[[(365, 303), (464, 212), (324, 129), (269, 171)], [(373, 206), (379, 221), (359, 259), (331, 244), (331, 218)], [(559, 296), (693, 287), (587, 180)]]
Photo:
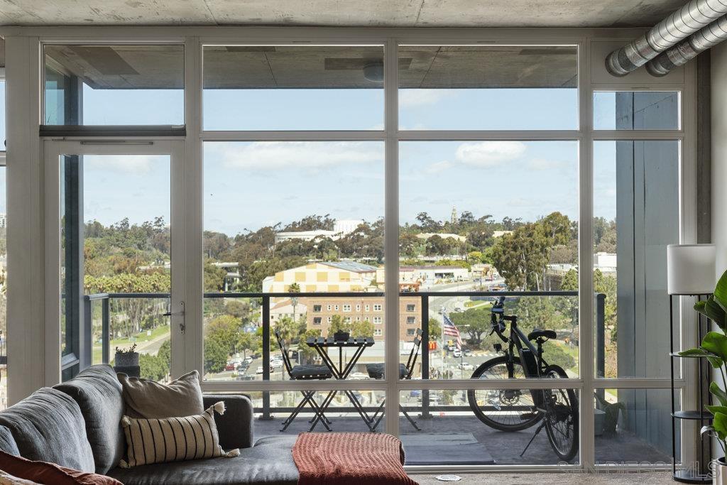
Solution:
[(401, 436), (406, 465), (493, 465), (495, 460), (472, 433)]

